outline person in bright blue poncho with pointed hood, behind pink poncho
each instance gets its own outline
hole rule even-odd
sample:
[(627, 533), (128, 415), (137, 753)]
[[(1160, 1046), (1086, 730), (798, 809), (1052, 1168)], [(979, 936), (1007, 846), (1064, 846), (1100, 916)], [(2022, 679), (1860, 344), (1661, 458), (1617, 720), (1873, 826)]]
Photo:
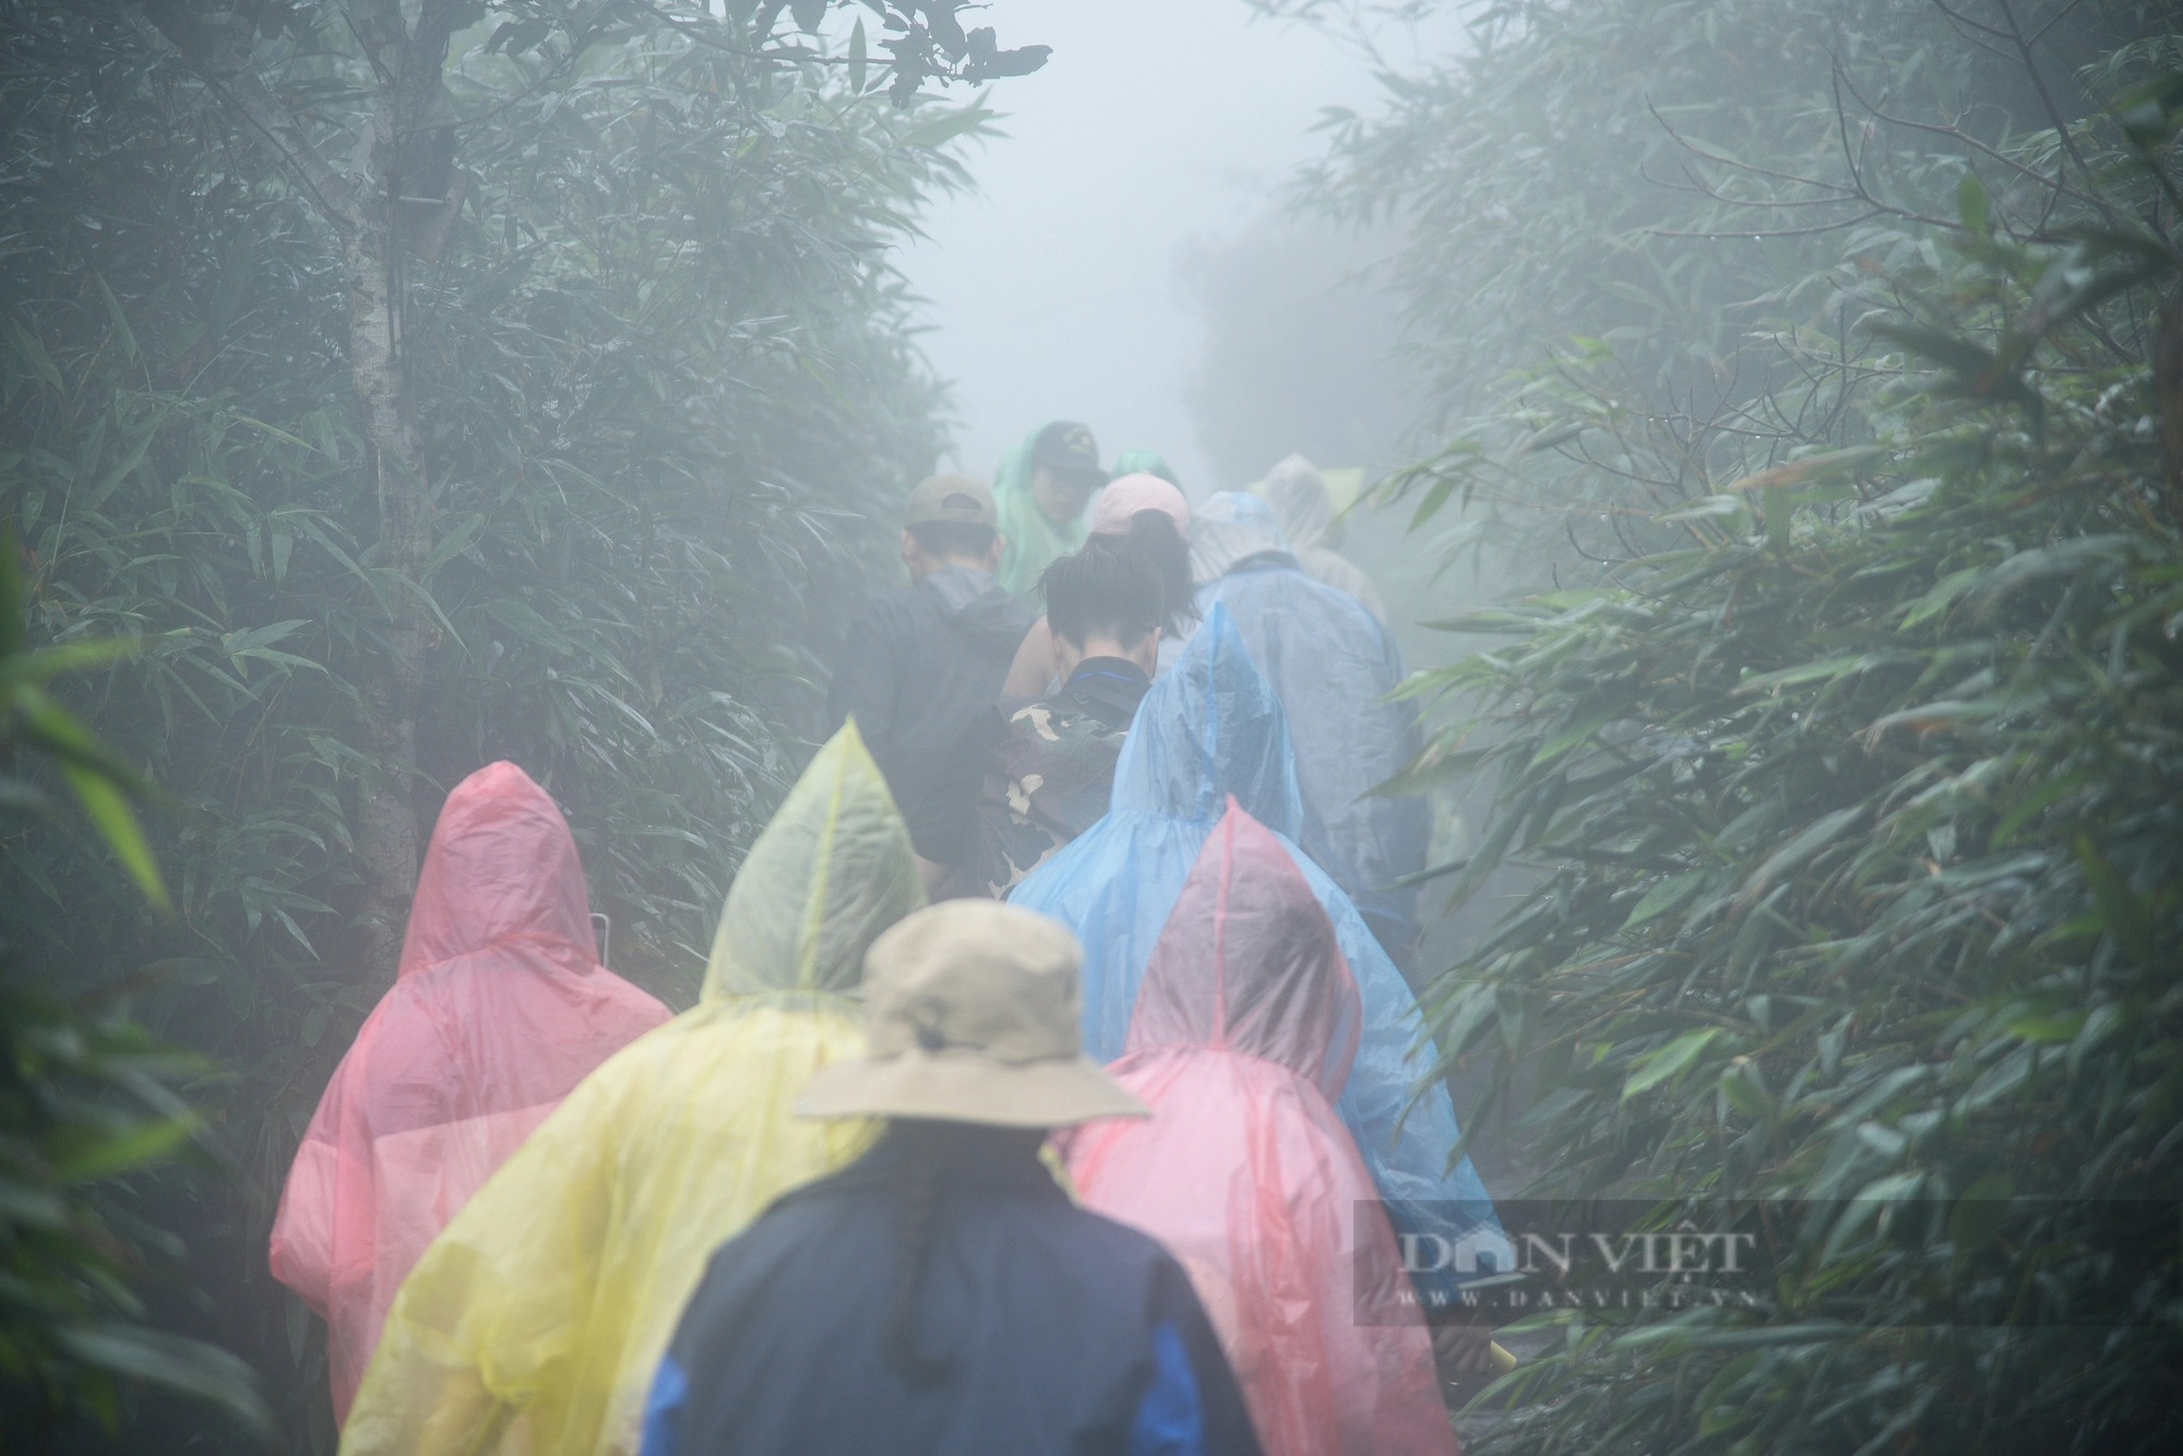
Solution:
[(1397, 1229), (1450, 1240), (1498, 1229), (1469, 1159), (1447, 1168), (1460, 1137), (1447, 1089), (1432, 1081), (1410, 1100), (1432, 1072), (1417, 998), (1349, 895), (1295, 847), (1303, 801), (1288, 725), (1225, 607), (1137, 707), (1107, 816), (1009, 895), (1083, 941), (1085, 1050), (1100, 1061), (1126, 1050), (1144, 967), (1229, 795), (1290, 851), (1356, 976), (1364, 1019), (1336, 1107)]

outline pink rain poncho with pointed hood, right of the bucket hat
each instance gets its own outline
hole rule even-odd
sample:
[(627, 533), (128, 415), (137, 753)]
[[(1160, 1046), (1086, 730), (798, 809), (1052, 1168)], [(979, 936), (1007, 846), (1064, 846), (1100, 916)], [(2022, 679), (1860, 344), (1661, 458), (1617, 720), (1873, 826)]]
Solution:
[[(1456, 1449), (1395, 1231), (1334, 1100), (1362, 1009), (1290, 851), (1229, 799), (1144, 971), (1109, 1072), (1153, 1109), (1070, 1142), (1087, 1207), (1190, 1270), (1268, 1456)], [(1364, 1205), (1364, 1207), (1360, 1207)]]

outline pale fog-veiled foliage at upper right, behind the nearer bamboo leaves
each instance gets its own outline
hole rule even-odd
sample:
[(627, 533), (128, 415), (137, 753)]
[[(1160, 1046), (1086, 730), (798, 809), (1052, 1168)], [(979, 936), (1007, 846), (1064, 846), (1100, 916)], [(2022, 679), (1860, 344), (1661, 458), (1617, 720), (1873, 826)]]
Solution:
[(1450, 439), (1382, 498), (1417, 496), (1419, 520), (1460, 500), (1524, 559), (1596, 576), (1679, 539), (1659, 513), (1853, 423), (1840, 384), (1873, 299), (1845, 295), (1845, 258), (1930, 264), (1967, 186), (2004, 234), (2098, 216), (2083, 199), (2107, 179), (2072, 148), (2115, 87), (2074, 70), (2172, 7), (1949, 9), (1506, 0), (1388, 76), (1382, 114), (1334, 111), (1305, 196), (1401, 231), (1384, 279)]

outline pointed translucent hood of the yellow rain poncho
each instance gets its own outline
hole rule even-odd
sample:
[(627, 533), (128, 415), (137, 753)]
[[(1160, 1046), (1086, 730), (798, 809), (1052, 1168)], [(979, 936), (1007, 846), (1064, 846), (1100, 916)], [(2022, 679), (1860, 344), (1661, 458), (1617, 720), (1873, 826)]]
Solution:
[(864, 950), (923, 902), (910, 834), (849, 723), (751, 845), (727, 891), (701, 995), (851, 993)]

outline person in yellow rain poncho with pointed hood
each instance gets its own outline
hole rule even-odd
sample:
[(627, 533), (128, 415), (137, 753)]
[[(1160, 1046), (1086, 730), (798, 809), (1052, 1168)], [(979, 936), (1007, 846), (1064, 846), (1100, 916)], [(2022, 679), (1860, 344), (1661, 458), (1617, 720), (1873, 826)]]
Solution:
[(578, 1087), (402, 1286), (345, 1456), (633, 1452), (712, 1251), (871, 1144), (790, 1105), (862, 1050), (864, 947), (921, 902), (849, 725), (751, 847), (699, 1004)]

